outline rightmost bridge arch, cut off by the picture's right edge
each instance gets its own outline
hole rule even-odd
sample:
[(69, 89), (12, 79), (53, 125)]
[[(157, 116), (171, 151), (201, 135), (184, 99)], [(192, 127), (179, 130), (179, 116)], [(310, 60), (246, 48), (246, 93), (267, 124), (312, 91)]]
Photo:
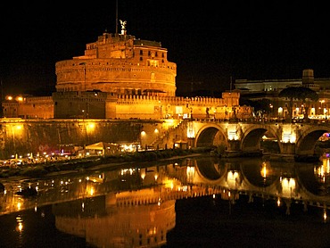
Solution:
[(326, 132), (330, 132), (330, 127), (325, 125), (315, 125), (305, 129), (296, 142), (295, 153), (297, 155), (313, 155), (318, 138)]

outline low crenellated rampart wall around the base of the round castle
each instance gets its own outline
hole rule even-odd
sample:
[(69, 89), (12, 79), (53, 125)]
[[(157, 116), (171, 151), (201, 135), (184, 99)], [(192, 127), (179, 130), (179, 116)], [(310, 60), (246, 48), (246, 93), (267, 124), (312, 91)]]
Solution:
[(111, 93), (55, 92), (53, 97), (27, 97), (22, 102), (4, 102), (4, 117), (23, 119), (190, 119), (250, 118), (252, 109), (239, 106), (238, 92), (223, 98)]

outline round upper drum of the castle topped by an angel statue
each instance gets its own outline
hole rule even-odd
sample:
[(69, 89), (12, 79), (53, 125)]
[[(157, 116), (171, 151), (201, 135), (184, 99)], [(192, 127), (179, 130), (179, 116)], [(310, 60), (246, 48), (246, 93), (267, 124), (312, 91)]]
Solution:
[(177, 64), (160, 42), (104, 32), (85, 54), (56, 62), (56, 91), (102, 91), (116, 95), (176, 95)]

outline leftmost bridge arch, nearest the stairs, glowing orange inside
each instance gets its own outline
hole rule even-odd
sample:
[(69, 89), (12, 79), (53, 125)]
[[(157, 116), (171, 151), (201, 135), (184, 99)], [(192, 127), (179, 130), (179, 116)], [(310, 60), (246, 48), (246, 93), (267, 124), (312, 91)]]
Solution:
[(195, 136), (196, 147), (210, 147), (213, 145), (227, 145), (227, 132), (219, 125), (208, 123), (200, 128)]

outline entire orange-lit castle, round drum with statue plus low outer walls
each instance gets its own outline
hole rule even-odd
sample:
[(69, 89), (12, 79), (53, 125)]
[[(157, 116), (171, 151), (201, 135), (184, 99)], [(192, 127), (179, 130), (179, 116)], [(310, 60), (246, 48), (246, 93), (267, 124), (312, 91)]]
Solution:
[(104, 32), (85, 54), (56, 62), (52, 96), (3, 102), (4, 117), (22, 119), (187, 119), (250, 117), (238, 91), (222, 98), (176, 96), (177, 64), (160, 42)]

